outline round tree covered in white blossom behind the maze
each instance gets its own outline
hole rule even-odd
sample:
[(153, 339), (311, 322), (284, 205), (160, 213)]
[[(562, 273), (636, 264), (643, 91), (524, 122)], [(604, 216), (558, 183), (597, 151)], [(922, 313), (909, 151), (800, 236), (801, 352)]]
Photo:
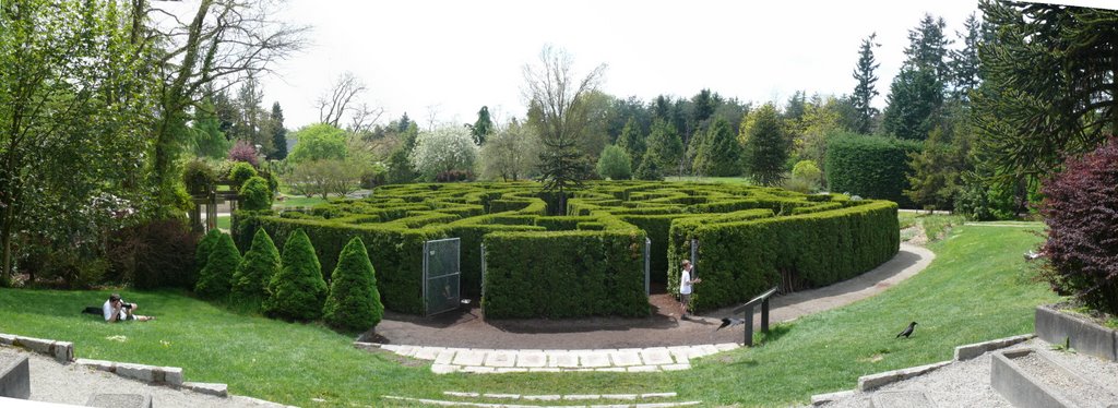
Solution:
[(468, 129), (443, 125), (420, 132), (409, 159), (425, 180), (434, 180), (438, 173), (451, 170), (473, 171), (477, 145)]

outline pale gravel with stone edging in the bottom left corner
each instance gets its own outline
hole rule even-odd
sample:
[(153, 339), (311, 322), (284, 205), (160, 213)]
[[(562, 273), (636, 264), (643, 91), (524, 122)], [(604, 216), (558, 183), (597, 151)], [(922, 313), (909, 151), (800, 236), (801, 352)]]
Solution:
[(28, 355), (32, 401), (84, 406), (96, 393), (139, 393), (150, 395), (152, 405), (160, 408), (282, 407), (245, 397), (220, 398), (167, 386), (152, 386), (83, 366), (61, 364), (53, 358), (22, 349), (0, 347), (0, 354)]

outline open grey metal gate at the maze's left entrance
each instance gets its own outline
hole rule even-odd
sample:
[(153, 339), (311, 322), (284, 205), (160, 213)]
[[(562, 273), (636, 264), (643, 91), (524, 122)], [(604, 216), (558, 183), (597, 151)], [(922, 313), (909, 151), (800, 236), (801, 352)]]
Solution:
[(423, 244), (424, 315), (453, 311), (462, 303), (461, 240), (428, 240)]

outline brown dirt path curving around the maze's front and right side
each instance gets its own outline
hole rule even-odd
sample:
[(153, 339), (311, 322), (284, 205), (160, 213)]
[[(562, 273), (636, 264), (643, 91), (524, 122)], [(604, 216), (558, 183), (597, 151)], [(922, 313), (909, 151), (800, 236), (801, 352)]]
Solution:
[[(881, 266), (827, 287), (773, 300), (770, 320), (783, 322), (870, 297), (922, 271), (935, 255), (901, 244), (900, 253)], [(679, 303), (667, 294), (650, 297), (654, 314), (646, 319), (485, 321), (481, 310), (430, 319), (386, 312), (377, 341), (389, 344), (477, 349), (627, 349), (741, 342), (741, 329), (718, 330), (735, 306), (680, 320)], [(755, 317), (759, 324), (759, 317)]]

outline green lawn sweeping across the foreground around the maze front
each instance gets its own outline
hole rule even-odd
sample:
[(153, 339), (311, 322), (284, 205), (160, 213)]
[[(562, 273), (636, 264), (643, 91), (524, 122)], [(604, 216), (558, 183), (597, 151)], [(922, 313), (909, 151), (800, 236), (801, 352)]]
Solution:
[[(390, 406), (399, 402), (380, 397), (446, 399), (447, 390), (675, 391), (704, 405), (788, 405), (851, 389), (859, 376), (950, 359), (959, 344), (1032, 332), (1033, 306), (1057, 300), (1021, 256), (1040, 228), (955, 227), (930, 246), (931, 266), (894, 288), (779, 325), (762, 347), (694, 360), (689, 371), (435, 376), (358, 351), (351, 334), (238, 315), (177, 292), (124, 292), (159, 319), (111, 325), (77, 313), (108, 292), (0, 290), (0, 332), (73, 341), (80, 358), (182, 367), (188, 381), (299, 406)], [(893, 339), (912, 320), (912, 339)]]

